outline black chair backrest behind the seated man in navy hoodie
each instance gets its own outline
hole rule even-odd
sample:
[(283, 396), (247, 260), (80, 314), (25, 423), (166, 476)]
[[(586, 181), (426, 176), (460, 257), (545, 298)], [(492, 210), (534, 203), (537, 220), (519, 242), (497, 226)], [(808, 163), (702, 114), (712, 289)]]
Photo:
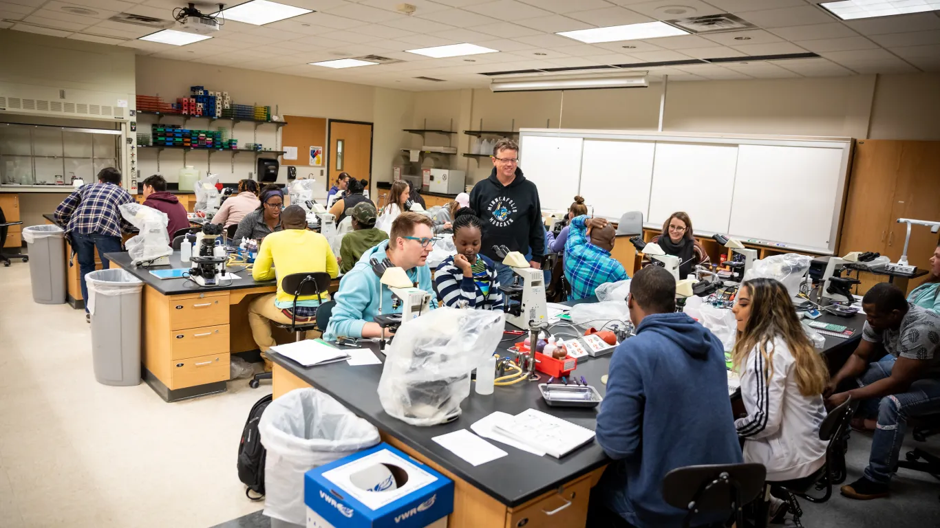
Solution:
[[(682, 527), (693, 518), (712, 514), (724, 525), (731, 515), (744, 526), (742, 507), (760, 495), (767, 470), (763, 464), (719, 464), (676, 468), (663, 479), (663, 499), (685, 510)], [(711, 516), (710, 516), (711, 517)]]

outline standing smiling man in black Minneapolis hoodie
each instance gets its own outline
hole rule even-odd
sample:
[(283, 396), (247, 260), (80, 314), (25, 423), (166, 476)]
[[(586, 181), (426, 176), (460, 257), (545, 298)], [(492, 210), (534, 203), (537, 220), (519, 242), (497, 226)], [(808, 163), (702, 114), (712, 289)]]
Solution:
[(539, 189), (525, 179), (519, 163), (519, 146), (501, 139), (493, 147), (493, 172), (478, 181), (470, 192), (470, 207), (483, 221), (480, 254), (496, 264), (499, 284), (512, 284), (512, 269), (504, 266), (493, 245), (505, 245), (525, 255), (536, 270), (541, 269), (545, 251), (545, 228), (541, 220)]

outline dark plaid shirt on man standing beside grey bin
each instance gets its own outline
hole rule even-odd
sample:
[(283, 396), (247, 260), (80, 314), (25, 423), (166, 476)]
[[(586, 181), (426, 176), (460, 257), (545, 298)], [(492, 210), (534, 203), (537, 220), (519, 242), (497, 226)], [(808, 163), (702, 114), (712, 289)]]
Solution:
[(133, 204), (133, 196), (120, 185), (87, 183), (55, 208), (55, 223), (66, 233), (120, 237), (122, 227), (133, 227), (118, 210), (124, 204)]

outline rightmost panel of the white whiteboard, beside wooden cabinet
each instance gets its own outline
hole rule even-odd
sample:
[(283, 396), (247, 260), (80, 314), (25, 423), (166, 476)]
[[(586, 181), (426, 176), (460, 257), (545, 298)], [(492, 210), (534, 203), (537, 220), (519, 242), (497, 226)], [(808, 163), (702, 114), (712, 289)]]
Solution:
[(841, 165), (838, 148), (741, 145), (729, 234), (828, 247)]

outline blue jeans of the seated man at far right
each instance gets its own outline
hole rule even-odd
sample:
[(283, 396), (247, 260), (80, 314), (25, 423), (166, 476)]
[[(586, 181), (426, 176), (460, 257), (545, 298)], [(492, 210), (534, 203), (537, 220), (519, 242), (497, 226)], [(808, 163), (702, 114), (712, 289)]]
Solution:
[[(891, 376), (895, 360), (894, 356), (887, 355), (878, 363), (870, 364), (869, 369), (858, 379), (858, 385), (864, 387)], [(907, 430), (907, 420), (940, 412), (940, 380), (917, 380), (906, 393), (863, 401), (858, 411), (866, 418), (878, 419), (878, 426), (871, 438), (871, 454), (865, 477), (873, 482), (887, 484), (898, 470), (898, 456)]]

